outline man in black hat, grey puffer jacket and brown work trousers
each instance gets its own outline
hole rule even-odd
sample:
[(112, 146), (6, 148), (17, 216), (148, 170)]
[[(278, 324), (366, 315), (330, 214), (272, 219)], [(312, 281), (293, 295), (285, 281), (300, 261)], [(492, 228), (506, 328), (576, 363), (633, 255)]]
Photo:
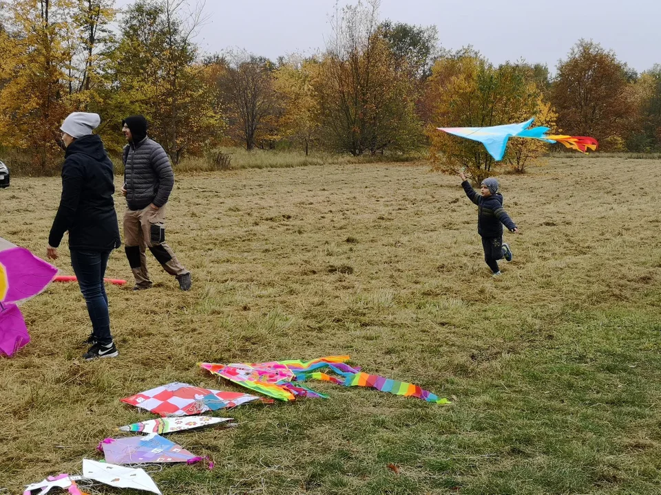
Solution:
[(147, 248), (182, 290), (191, 288), (191, 272), (177, 260), (165, 243), (165, 203), (174, 186), (174, 173), (165, 150), (147, 137), (147, 120), (132, 115), (123, 121), (129, 142), (124, 147), (124, 186), (127, 210), (124, 214), (126, 257), (136, 278), (134, 290), (149, 289)]

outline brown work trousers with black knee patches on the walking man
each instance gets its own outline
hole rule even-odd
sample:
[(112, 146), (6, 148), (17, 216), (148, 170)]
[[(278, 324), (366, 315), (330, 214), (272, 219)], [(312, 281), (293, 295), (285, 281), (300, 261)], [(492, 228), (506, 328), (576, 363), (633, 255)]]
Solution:
[(142, 210), (126, 210), (124, 214), (124, 245), (131, 271), (136, 278), (136, 287), (151, 287), (147, 271), (147, 248), (154, 254), (167, 273), (180, 276), (189, 273), (179, 263), (174, 252), (165, 243), (165, 206), (153, 210), (151, 206)]

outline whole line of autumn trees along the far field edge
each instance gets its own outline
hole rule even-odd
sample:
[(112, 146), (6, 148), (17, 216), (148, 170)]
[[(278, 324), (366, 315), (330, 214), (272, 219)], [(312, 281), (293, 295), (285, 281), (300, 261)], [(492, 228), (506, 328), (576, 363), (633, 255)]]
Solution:
[[(142, 113), (176, 164), (219, 146), (313, 148), (352, 155), (428, 149), (441, 168), (489, 170), (479, 144), (438, 126), (536, 117), (589, 135), (605, 151), (661, 150), (661, 65), (636, 73), (579, 40), (554, 76), (539, 63), (494, 65), (471, 47), (439, 46), (437, 28), (379, 19), (379, 1), (332, 18), (326, 47), (276, 61), (195, 42), (202, 8), (185, 0), (0, 1), (0, 152), (36, 170), (61, 159), (59, 124), (94, 111), (109, 151), (120, 122)], [(505, 163), (524, 170), (545, 149), (518, 140)]]

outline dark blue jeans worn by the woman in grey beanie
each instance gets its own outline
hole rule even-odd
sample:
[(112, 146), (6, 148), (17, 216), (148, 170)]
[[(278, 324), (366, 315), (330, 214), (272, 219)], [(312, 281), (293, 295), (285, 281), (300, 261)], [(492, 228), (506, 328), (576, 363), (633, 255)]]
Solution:
[(92, 320), (92, 333), (100, 344), (112, 342), (108, 296), (103, 285), (109, 256), (109, 251), (71, 251), (71, 265), (87, 303), (87, 313)]

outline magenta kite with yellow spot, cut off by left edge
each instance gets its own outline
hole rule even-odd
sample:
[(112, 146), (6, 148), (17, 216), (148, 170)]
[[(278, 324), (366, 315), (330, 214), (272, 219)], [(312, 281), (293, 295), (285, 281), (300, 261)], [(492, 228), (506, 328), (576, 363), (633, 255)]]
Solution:
[(4, 239), (0, 246), (0, 354), (10, 356), (30, 342), (16, 303), (45, 289), (57, 268)]

